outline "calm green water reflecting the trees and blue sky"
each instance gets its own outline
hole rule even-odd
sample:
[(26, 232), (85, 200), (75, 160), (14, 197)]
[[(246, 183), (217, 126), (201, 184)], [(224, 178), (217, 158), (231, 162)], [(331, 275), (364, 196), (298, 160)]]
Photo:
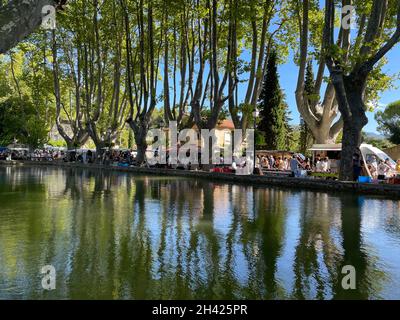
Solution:
[[(42, 288), (46, 265), (55, 290)], [(400, 299), (400, 202), (0, 166), (9, 298)]]

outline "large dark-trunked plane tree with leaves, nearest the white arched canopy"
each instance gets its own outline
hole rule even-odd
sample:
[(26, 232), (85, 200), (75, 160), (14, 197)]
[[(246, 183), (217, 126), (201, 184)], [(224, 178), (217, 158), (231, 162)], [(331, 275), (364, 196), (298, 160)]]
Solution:
[[(385, 55), (400, 40), (400, 0), (343, 0), (341, 5), (354, 6), (359, 17), (358, 32), (352, 41), (350, 28), (344, 29), (341, 45), (335, 43), (335, 1), (326, 0), (323, 57), (343, 118), (340, 179), (351, 181), (353, 156), (358, 153), (361, 132), (368, 123), (365, 101), (368, 80), (377, 71)], [(345, 18), (345, 14), (342, 18)]]

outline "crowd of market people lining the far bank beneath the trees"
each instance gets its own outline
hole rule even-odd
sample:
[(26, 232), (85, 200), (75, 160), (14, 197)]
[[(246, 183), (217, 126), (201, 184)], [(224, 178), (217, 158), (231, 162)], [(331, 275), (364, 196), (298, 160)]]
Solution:
[[(99, 163), (104, 165), (130, 166), (136, 165), (137, 153), (132, 150), (109, 150), (96, 153), (92, 150), (57, 150), (57, 149), (36, 149), (33, 152), (27, 150), (0, 150), (0, 160), (30, 160), (30, 161), (64, 161), (78, 163)], [(361, 160), (361, 156), (355, 154), (353, 157), (353, 167), (355, 180), (359, 176), (370, 176), (375, 180), (386, 180), (400, 175), (400, 159), (397, 163), (392, 163), (389, 159), (382, 160), (372, 156), (366, 163)], [(223, 157), (221, 165), (224, 166)], [(155, 165), (157, 166), (157, 165)], [(194, 169), (190, 163), (186, 165), (167, 166), (173, 169)], [(233, 161), (229, 165), (229, 172), (237, 172), (242, 168), (252, 168), (253, 163), (238, 163)], [(291, 156), (278, 155), (257, 155), (256, 174), (263, 174), (268, 171), (285, 171), (292, 176), (302, 176), (309, 172), (332, 173), (339, 172), (340, 160), (329, 159), (327, 156), (317, 154), (312, 160), (300, 154)], [(201, 167), (196, 167), (201, 169)], [(251, 171), (251, 170), (249, 170)], [(225, 172), (225, 171), (224, 171)], [(228, 172), (228, 171), (226, 171)]]

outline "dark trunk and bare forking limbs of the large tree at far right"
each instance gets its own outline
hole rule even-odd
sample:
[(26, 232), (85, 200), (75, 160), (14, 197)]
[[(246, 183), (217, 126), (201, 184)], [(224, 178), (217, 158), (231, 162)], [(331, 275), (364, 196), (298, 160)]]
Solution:
[[(307, 1), (307, 0), (305, 0)], [(346, 2), (347, 3), (347, 2)], [(342, 181), (352, 181), (353, 174), (353, 156), (360, 155), (359, 146), (361, 144), (361, 130), (368, 123), (365, 114), (366, 107), (364, 104), (365, 89), (367, 78), (374, 69), (374, 66), (399, 42), (400, 40), (400, 1), (397, 1), (397, 28), (393, 35), (380, 47), (375, 53), (372, 52), (374, 43), (380, 35), (383, 34), (385, 28), (382, 23), (386, 19), (387, 1), (373, 1), (371, 8), (371, 16), (368, 20), (364, 36), (364, 45), (361, 49), (356, 50), (360, 56), (353, 57), (354, 60), (359, 59), (352, 71), (348, 72), (343, 67), (340, 59), (334, 57), (333, 42), (335, 34), (335, 1), (327, 0), (325, 8), (325, 26), (323, 32), (323, 43), (326, 51), (326, 64), (329, 69), (330, 78), (336, 92), (336, 100), (342, 114), (343, 127), (343, 146), (342, 159), (340, 162), (340, 179)], [(342, 30), (341, 30), (342, 31)], [(359, 32), (361, 35), (362, 30)], [(344, 46), (342, 49), (350, 47), (350, 31), (342, 31)], [(360, 36), (358, 37), (358, 39)], [(340, 37), (339, 37), (340, 39)], [(348, 51), (348, 50), (347, 50)], [(361, 61), (360, 58), (365, 59)], [(345, 60), (349, 56), (346, 55)], [(300, 83), (301, 84), (301, 83)]]

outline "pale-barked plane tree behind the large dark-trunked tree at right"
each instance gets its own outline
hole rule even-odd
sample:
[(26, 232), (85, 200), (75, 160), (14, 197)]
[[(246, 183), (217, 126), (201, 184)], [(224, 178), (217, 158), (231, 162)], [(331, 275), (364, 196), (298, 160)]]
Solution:
[[(356, 60), (362, 59), (359, 49), (363, 43), (362, 38), (365, 36), (372, 2), (339, 1), (339, 3), (339, 8), (332, 17), (331, 32), (335, 31), (335, 35), (337, 35), (336, 40), (332, 39), (332, 45), (335, 52), (341, 53), (342, 64), (350, 67), (355, 64)], [(350, 28), (354, 27), (350, 26), (349, 19), (352, 11), (348, 6), (351, 5), (356, 9), (353, 24), (358, 27), (358, 30), (354, 30), (354, 32), (350, 32)], [(343, 15), (340, 15), (339, 11), (342, 8), (344, 9)], [(390, 14), (390, 11), (387, 14)], [(297, 52), (295, 62), (298, 64), (295, 93), (297, 108), (316, 143), (333, 143), (343, 129), (343, 114), (340, 112), (335, 85), (329, 78), (329, 59), (325, 55), (327, 43), (324, 38), (324, 26), (326, 25), (324, 19), (324, 9), (320, 7), (319, 1), (293, 1), (292, 16), (288, 24), (292, 25), (293, 30), (298, 30), (297, 38), (299, 39), (299, 46), (295, 48)], [(341, 23), (342, 19), (343, 24)], [(387, 25), (382, 26), (386, 29), (388, 27)], [(352, 34), (353, 41), (350, 39)], [(311, 64), (316, 71), (311, 93), (310, 90), (306, 90), (307, 64)], [(363, 101), (368, 108), (377, 105), (380, 92), (387, 89), (393, 81), (392, 76), (383, 72), (384, 64), (385, 60), (376, 64), (374, 71), (370, 73), (366, 81)]]

